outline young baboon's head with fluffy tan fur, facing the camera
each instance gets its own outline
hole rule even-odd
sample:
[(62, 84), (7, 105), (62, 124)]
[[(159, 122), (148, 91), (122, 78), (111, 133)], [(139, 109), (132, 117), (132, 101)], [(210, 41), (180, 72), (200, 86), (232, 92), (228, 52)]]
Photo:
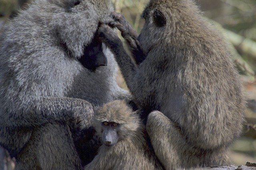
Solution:
[(95, 115), (94, 126), (106, 147), (129, 138), (138, 131), (139, 118), (136, 112), (122, 100), (115, 100), (102, 106)]

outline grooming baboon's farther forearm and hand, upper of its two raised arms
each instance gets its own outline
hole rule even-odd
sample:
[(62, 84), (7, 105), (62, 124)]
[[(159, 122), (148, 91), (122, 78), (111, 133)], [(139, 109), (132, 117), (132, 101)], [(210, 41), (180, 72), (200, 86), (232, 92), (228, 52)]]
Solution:
[(146, 59), (146, 55), (140, 47), (140, 42), (137, 40), (137, 31), (133, 29), (132, 25), (124, 18), (123, 14), (112, 12), (111, 17), (114, 21), (110, 22), (110, 25), (121, 31), (122, 37), (128, 43), (128, 47), (132, 52), (136, 64), (142, 63), (142, 61)]

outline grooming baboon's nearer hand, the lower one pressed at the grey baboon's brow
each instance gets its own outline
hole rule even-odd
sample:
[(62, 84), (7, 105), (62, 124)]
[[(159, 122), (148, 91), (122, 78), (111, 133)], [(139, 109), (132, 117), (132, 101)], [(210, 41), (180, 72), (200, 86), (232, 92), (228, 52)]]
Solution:
[(102, 24), (98, 28), (98, 36), (110, 49), (114, 49), (122, 45), (122, 41), (116, 35), (116, 32), (108, 25)]

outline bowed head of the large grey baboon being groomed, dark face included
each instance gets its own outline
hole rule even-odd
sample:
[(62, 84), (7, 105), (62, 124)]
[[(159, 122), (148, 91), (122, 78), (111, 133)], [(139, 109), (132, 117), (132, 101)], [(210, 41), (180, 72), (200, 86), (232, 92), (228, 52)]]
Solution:
[[(97, 37), (100, 23), (112, 20), (110, 0), (38, 0), (50, 32), (89, 70), (106, 66), (106, 46)], [(48, 6), (48, 7), (47, 7)], [(42, 13), (42, 10), (41, 10)]]

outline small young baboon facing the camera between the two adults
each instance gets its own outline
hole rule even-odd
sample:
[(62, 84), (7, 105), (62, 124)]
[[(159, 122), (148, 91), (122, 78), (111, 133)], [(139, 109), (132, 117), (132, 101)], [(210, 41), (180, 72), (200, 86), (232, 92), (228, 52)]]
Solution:
[(95, 113), (94, 127), (102, 141), (85, 170), (152, 170), (161, 165), (146, 142), (140, 117), (123, 100), (104, 104)]

